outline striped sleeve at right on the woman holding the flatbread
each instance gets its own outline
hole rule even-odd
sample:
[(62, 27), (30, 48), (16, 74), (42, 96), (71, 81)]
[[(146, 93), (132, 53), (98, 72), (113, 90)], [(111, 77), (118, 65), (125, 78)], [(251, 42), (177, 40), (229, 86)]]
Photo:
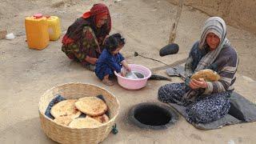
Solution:
[(226, 53), (214, 62), (218, 67), (220, 79), (216, 82), (207, 82), (207, 87), (204, 94), (219, 93), (226, 90), (234, 90), (235, 73), (238, 68), (238, 56), (236, 52)]

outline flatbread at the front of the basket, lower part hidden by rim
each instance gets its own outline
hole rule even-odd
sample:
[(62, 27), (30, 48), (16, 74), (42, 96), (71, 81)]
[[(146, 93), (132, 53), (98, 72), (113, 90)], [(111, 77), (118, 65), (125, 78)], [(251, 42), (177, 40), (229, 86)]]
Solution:
[(89, 116), (86, 116), (86, 118), (76, 118), (69, 124), (71, 128), (95, 128), (101, 125), (101, 122), (98, 122)]

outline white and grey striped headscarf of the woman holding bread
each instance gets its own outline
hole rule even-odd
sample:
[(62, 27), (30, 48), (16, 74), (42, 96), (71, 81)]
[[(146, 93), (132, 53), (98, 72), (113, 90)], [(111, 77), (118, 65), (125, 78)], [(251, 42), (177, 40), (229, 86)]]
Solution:
[(223, 46), (230, 45), (229, 40), (226, 38), (226, 23), (222, 18), (211, 17), (208, 18), (203, 26), (201, 39), (199, 42), (199, 49), (205, 49), (208, 45), (206, 43), (206, 36), (209, 33), (214, 33), (220, 39), (218, 47), (215, 50), (209, 51), (198, 63), (195, 72), (198, 70), (203, 70), (207, 66), (210, 66), (214, 60), (218, 57), (219, 52), (222, 50)]

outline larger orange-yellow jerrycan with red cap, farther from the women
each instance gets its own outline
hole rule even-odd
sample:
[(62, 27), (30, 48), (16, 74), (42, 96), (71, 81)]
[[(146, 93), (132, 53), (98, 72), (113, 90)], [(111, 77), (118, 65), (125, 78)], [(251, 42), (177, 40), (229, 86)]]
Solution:
[(41, 15), (25, 18), (26, 42), (30, 49), (42, 50), (49, 45), (48, 22)]

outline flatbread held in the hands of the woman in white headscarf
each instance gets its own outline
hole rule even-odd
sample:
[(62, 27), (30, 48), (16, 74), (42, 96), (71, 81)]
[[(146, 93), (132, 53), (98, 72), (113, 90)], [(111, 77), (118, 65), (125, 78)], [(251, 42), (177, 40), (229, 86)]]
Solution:
[(191, 79), (193, 78), (196, 80), (199, 80), (199, 78), (203, 78), (207, 82), (214, 82), (214, 81), (218, 81), (220, 76), (214, 70), (206, 69), (206, 70), (199, 70), (198, 72), (194, 73), (191, 76)]

